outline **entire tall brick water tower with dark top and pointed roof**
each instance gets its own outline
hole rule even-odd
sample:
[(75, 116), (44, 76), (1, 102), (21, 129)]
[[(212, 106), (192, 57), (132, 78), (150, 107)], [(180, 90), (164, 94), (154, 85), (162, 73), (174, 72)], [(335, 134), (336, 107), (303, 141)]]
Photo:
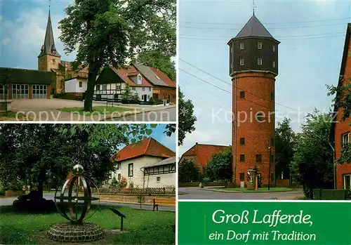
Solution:
[(234, 116), (232, 168), (237, 187), (250, 186), (248, 173), (253, 169), (258, 169), (263, 185), (274, 186), (274, 82), (279, 43), (254, 13), (228, 42)]

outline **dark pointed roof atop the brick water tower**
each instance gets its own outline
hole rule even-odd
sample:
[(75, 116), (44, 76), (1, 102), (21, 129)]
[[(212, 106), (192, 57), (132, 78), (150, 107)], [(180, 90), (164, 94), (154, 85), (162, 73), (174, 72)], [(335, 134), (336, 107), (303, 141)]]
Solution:
[(244, 27), (241, 29), (241, 31), (237, 34), (236, 39), (241, 38), (241, 37), (267, 37), (274, 39), (270, 32), (265, 29), (265, 27), (262, 25), (260, 20), (256, 18), (255, 15), (252, 15), (250, 20), (246, 22)]

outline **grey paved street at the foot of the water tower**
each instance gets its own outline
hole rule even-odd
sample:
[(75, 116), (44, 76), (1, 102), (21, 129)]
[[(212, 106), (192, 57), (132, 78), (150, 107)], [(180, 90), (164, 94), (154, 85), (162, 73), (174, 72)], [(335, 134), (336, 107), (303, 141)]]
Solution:
[(303, 197), (302, 190), (291, 192), (266, 192), (266, 193), (226, 193), (213, 192), (211, 190), (200, 190), (199, 187), (180, 187), (178, 189), (179, 199), (293, 199)]

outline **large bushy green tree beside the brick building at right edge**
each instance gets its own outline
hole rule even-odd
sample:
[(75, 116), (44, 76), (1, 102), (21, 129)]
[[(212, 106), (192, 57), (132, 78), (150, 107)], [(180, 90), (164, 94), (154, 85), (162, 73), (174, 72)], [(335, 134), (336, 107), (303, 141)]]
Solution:
[(302, 130), (291, 175), (303, 185), (305, 197), (312, 198), (315, 188), (333, 188), (333, 151), (329, 145), (331, 114), (314, 111), (306, 117)]

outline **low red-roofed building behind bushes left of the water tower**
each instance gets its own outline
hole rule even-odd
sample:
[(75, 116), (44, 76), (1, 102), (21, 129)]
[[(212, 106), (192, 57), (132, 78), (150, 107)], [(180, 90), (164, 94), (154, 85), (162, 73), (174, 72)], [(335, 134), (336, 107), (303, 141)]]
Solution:
[(206, 166), (207, 161), (211, 159), (212, 154), (226, 150), (228, 146), (225, 145), (203, 145), (195, 144), (187, 152), (183, 154), (185, 156), (196, 156), (197, 161), (201, 166)]

